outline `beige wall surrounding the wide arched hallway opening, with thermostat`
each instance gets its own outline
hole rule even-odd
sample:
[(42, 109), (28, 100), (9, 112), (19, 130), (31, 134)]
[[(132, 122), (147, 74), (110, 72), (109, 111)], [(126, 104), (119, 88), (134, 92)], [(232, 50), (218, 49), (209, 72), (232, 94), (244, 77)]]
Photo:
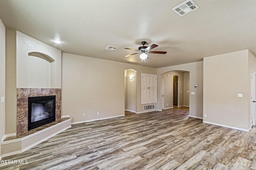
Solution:
[[(194, 62), (188, 64), (181, 64), (176, 66), (168, 66), (163, 68), (157, 68), (157, 75), (161, 77), (162, 74), (172, 70), (184, 70), (190, 72), (190, 91), (195, 92), (191, 95), (190, 92), (190, 107), (189, 115), (192, 117), (203, 117), (203, 62)], [(160, 87), (161, 78), (158, 78), (158, 87)], [(198, 85), (198, 88), (194, 88), (194, 85)], [(160, 88), (157, 89), (158, 99), (161, 98)], [(157, 108), (160, 109), (162, 102), (158, 100)]]

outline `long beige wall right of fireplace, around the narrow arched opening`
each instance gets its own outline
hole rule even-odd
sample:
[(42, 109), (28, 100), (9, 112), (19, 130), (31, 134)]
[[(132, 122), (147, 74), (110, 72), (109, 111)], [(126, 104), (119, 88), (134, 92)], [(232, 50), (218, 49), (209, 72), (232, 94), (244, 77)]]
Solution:
[[(62, 115), (72, 122), (124, 115), (124, 70), (137, 71), (137, 112), (141, 104), (141, 73), (156, 68), (62, 53)], [(99, 115), (97, 115), (99, 112)]]

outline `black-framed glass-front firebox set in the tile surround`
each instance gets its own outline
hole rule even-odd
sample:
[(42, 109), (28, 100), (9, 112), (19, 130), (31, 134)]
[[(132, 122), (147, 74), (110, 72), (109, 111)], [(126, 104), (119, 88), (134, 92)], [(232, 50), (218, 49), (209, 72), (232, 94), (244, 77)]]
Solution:
[(55, 121), (56, 96), (28, 98), (28, 131)]

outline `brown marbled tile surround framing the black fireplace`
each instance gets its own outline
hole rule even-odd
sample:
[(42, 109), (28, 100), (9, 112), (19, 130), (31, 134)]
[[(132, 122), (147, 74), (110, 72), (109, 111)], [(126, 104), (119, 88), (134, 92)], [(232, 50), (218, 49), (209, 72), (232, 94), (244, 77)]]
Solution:
[(37, 96), (56, 96), (56, 121), (60, 120), (60, 88), (17, 88), (17, 135), (28, 131), (28, 97)]

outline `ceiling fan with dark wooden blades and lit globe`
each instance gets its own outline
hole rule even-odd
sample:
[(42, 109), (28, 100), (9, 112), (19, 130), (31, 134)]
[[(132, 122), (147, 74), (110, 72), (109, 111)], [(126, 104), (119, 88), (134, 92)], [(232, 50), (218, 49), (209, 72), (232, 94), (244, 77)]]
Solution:
[[(141, 43), (142, 43), (142, 46), (139, 47), (138, 50), (130, 49), (130, 48), (124, 48), (124, 49), (138, 51), (138, 53), (134, 53), (134, 54), (140, 54), (140, 59), (144, 60), (144, 61), (145, 61), (145, 59), (148, 59), (147, 53), (154, 53), (154, 54), (166, 54), (167, 53), (166, 51), (150, 51), (151, 49), (154, 49), (155, 47), (158, 46), (156, 44), (152, 44), (149, 47), (147, 47), (147, 46), (144, 46), (146, 44), (146, 41), (142, 41)], [(134, 54), (126, 55), (124, 57), (129, 57)]]

